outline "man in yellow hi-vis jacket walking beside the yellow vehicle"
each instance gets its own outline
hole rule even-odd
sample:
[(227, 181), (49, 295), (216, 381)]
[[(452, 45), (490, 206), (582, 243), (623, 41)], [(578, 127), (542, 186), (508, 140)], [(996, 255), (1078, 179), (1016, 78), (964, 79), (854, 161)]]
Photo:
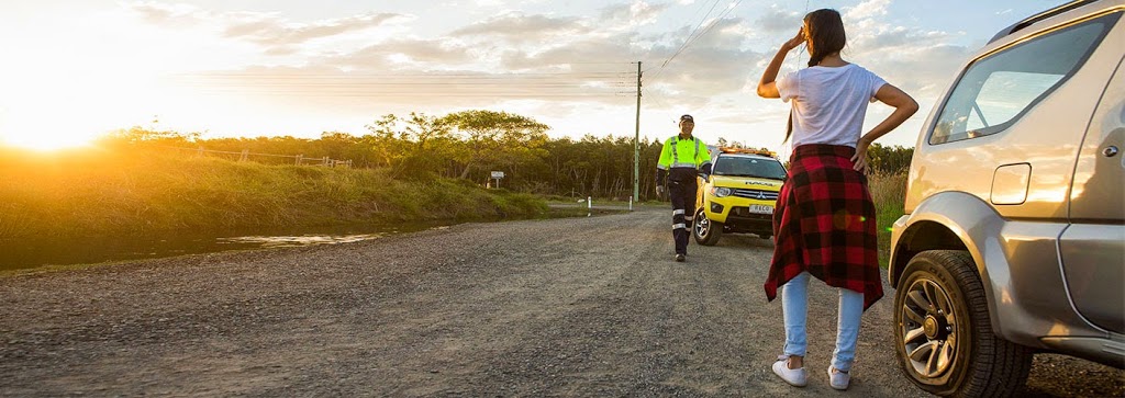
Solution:
[(672, 199), (672, 238), (676, 242), (676, 261), (684, 261), (687, 255), (687, 238), (695, 215), (696, 172), (711, 172), (706, 144), (692, 136), (693, 129), (695, 120), (692, 116), (681, 116), (680, 134), (664, 143), (660, 161), (656, 164), (656, 193), (663, 197), (667, 190)]

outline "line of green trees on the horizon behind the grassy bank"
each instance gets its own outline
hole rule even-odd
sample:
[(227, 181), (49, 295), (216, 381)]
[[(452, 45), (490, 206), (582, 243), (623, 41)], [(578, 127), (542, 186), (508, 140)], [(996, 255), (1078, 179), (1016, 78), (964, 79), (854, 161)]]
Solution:
[[(202, 138), (156, 128), (133, 127), (106, 142), (144, 147), (206, 147), (214, 151), (351, 160), (354, 168), (386, 168), (398, 180), (461, 179), (485, 184), (492, 171), (503, 171), (507, 189), (564, 197), (624, 199), (632, 195), (632, 137), (586, 135), (550, 138), (549, 126), (532, 118), (492, 110), (466, 110), (444, 116), (412, 112), (385, 115), (356, 136), (325, 132), (320, 138)], [(720, 138), (719, 145), (738, 146)], [(641, 200), (654, 196), (656, 162), (663, 141), (644, 138), (640, 148)], [(872, 168), (901, 173), (912, 148), (874, 144)]]

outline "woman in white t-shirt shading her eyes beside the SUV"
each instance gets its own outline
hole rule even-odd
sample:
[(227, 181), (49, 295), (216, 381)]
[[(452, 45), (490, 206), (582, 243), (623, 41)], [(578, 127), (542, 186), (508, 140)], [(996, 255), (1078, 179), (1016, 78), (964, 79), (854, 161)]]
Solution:
[[(839, 288), (836, 350), (829, 385), (847, 389), (855, 359), (860, 317), (883, 297), (876, 253), (875, 206), (867, 190), (867, 146), (918, 110), (918, 103), (883, 79), (840, 57), (844, 22), (836, 10), (804, 16), (803, 27), (785, 42), (762, 73), (758, 96), (792, 101), (785, 139), (793, 139), (789, 179), (774, 212), (773, 262), (765, 290), (770, 300), (782, 287), (785, 349), (773, 371), (790, 385), (807, 383), (806, 313), (809, 275)], [(785, 54), (807, 44), (809, 67), (777, 79)], [(861, 136), (867, 103), (894, 108)]]

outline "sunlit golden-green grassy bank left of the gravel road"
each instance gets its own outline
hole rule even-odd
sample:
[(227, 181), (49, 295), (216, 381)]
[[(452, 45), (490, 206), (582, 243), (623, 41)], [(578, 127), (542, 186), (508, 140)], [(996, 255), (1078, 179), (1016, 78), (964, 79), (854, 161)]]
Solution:
[(144, 151), (0, 151), (0, 238), (546, 214), (530, 195), (382, 170), (263, 165)]

